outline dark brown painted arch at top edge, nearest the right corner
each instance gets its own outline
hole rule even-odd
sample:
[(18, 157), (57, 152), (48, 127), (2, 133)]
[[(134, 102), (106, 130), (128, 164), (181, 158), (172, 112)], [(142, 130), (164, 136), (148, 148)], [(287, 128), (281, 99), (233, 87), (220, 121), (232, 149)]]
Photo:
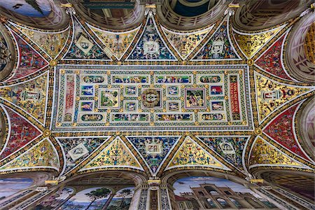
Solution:
[(279, 25), (306, 10), (309, 0), (249, 1), (235, 12), (233, 25), (241, 30), (260, 30)]

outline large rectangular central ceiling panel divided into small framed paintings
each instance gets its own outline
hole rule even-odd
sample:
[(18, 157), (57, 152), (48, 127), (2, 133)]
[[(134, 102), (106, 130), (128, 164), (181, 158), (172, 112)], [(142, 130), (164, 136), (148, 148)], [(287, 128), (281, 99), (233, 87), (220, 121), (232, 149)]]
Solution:
[(251, 130), (246, 66), (57, 66), (52, 128)]

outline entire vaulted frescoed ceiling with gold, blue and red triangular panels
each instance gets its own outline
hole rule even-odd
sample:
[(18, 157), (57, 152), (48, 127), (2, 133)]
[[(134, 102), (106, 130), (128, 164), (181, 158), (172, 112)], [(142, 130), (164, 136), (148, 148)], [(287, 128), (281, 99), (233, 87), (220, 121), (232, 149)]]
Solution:
[(315, 86), (293, 77), (285, 59), (301, 17), (243, 31), (228, 13), (179, 31), (146, 9), (123, 30), (72, 7), (55, 31), (1, 18), (0, 50), (9, 42), (15, 50), (0, 57), (0, 71), (14, 62), (1, 74), (0, 174), (314, 172), (296, 116)]

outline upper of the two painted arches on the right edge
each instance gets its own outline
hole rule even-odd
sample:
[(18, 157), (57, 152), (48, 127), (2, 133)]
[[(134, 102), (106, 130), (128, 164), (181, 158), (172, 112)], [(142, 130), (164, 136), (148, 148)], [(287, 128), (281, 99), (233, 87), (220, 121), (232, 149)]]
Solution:
[(307, 57), (304, 48), (308, 43), (313, 43), (314, 48), (314, 35), (311, 38), (307, 36), (309, 30), (313, 30), (314, 34), (314, 22), (315, 13), (311, 12), (295, 24), (286, 40), (287, 48), (283, 62), (290, 76), (307, 83), (315, 83), (315, 62), (313, 58)]

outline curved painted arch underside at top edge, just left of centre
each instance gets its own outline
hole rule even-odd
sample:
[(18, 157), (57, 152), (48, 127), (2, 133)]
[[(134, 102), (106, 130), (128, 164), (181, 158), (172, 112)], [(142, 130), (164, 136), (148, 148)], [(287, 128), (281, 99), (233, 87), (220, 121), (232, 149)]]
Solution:
[(112, 29), (116, 31), (132, 29), (139, 26), (144, 20), (145, 6), (140, 5), (139, 0), (135, 1), (133, 9), (126, 9), (122, 13), (116, 15), (113, 15), (112, 9), (106, 9), (106, 12), (102, 10), (101, 13), (101, 11), (93, 11), (86, 8), (80, 2), (73, 4), (73, 6), (91, 25), (99, 26), (104, 29)]

